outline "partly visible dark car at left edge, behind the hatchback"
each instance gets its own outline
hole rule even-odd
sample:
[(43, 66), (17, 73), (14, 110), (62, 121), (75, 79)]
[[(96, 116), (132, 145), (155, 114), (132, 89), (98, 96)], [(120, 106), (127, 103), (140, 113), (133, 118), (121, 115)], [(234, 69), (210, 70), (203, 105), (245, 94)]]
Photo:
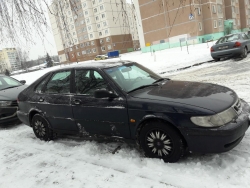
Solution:
[(0, 126), (16, 124), (17, 96), (27, 87), (25, 81), (17, 81), (14, 78), (0, 74)]

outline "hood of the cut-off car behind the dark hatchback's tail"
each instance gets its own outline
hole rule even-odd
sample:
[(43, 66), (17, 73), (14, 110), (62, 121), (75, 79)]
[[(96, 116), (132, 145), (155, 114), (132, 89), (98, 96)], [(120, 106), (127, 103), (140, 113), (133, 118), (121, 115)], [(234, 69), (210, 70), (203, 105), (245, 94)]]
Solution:
[(17, 100), (18, 94), (23, 91), (28, 85), (21, 85), (10, 89), (0, 90), (0, 100)]

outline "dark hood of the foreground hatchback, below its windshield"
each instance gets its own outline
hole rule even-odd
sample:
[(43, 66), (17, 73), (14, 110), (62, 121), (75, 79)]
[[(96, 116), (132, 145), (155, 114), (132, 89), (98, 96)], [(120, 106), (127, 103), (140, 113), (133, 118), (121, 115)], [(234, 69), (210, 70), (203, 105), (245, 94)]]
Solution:
[(232, 106), (238, 96), (226, 87), (199, 82), (167, 81), (131, 93), (132, 97), (196, 106), (216, 113)]

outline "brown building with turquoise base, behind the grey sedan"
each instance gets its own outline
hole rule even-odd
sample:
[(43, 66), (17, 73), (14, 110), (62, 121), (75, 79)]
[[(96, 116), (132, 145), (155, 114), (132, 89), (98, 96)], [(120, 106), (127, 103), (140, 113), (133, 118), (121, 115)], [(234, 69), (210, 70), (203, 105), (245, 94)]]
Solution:
[(138, 33), (142, 50), (202, 43), (248, 28), (249, 3), (249, 0), (135, 0), (138, 18), (141, 17)]

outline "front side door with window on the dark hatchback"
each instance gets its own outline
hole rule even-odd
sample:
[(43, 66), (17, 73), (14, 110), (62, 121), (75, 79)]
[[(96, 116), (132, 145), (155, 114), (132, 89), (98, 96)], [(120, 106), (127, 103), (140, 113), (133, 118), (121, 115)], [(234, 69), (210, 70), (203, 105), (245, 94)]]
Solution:
[(79, 130), (87, 134), (130, 138), (125, 97), (95, 98), (94, 92), (97, 89), (113, 91), (97, 70), (75, 71), (72, 109)]

